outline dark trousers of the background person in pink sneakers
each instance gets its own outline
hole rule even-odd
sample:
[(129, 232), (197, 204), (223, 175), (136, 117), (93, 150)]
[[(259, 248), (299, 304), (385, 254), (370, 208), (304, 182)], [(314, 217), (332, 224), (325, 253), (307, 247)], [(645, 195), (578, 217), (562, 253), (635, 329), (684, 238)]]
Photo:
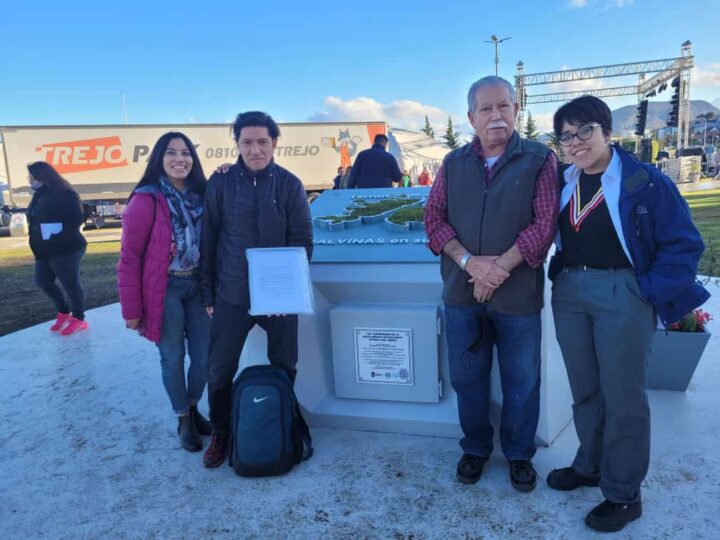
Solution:
[[(58, 313), (72, 311), (73, 317), (80, 320), (85, 318), (85, 296), (80, 286), (80, 260), (83, 255), (84, 247), (69, 255), (35, 261), (35, 283), (50, 297), (55, 310)], [(65, 289), (70, 299), (69, 306), (56, 280), (60, 280)]]

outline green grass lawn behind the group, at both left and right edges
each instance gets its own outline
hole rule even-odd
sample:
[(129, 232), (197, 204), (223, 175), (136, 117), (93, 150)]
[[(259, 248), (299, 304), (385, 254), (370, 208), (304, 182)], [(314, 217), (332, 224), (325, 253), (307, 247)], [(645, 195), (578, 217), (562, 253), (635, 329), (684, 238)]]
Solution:
[[(699, 272), (720, 275), (720, 189), (683, 193), (683, 196), (705, 239), (705, 255)], [(87, 309), (118, 301), (115, 265), (119, 251), (120, 242), (88, 244), (80, 265), (80, 283), (85, 291)], [(0, 336), (55, 317), (50, 300), (35, 286), (33, 262), (27, 247), (0, 248), (3, 299), (0, 302)]]

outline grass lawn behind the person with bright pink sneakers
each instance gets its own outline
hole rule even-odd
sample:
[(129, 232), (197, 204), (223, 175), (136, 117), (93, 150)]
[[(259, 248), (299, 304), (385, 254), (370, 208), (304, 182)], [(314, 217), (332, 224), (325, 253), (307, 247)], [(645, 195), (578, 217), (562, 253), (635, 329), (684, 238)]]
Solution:
[[(119, 253), (120, 242), (88, 244), (80, 264), (86, 309), (118, 301), (115, 265)], [(30, 248), (0, 250), (3, 299), (0, 302), (0, 336), (55, 318), (52, 302), (35, 285), (34, 268)]]

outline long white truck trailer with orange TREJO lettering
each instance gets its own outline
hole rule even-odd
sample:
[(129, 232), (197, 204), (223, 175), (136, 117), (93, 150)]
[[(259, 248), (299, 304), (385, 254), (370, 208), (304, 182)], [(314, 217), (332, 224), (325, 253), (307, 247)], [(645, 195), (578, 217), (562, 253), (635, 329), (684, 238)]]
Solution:
[[(9, 126), (0, 127), (9, 201), (21, 209), (32, 196), (27, 164), (47, 161), (78, 191), (87, 216), (113, 214), (140, 180), (155, 141), (168, 131), (185, 133), (196, 145), (207, 176), (238, 150), (230, 124)], [(308, 192), (332, 188), (341, 165), (369, 148), (385, 122), (280, 124), (275, 160), (298, 176)], [(1, 167), (0, 167), (1, 168)]]

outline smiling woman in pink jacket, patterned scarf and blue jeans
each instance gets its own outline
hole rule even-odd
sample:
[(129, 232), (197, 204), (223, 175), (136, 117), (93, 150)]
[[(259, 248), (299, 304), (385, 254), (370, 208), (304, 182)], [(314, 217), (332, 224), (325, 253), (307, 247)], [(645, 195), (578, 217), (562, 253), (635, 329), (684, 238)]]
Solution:
[(207, 384), (210, 335), (198, 286), (204, 192), (190, 139), (177, 132), (160, 137), (123, 214), (117, 267), (125, 325), (157, 344), (178, 436), (190, 452), (201, 450), (200, 435), (211, 431), (197, 409)]

